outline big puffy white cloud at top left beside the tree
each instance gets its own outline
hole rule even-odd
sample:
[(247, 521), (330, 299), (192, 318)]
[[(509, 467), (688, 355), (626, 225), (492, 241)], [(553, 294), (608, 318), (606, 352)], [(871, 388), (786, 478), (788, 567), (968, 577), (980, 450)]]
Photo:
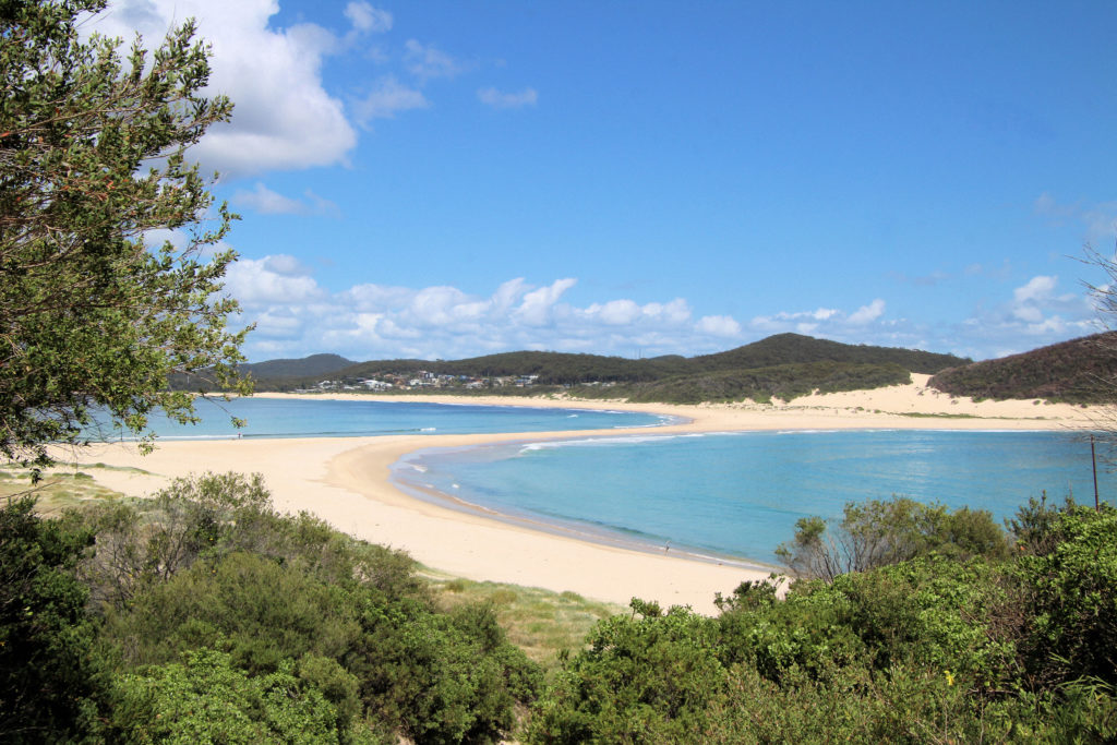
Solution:
[[(347, 13), (372, 30), (373, 10), (354, 2)], [(113, 0), (83, 31), (125, 40), (140, 31), (154, 47), (182, 20), (198, 19), (199, 37), (213, 47), (207, 90), (236, 104), (232, 122), (210, 127), (190, 151), (207, 169), (244, 175), (344, 162), (356, 133), (321, 75), (336, 40), (311, 23), (273, 28), (277, 11), (274, 0)]]

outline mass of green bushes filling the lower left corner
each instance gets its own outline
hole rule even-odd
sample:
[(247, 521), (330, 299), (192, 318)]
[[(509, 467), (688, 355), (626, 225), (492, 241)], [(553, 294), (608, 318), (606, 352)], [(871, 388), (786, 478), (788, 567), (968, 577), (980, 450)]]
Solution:
[(258, 478), (0, 527), (4, 742), (495, 742), (541, 682), (491, 606), (440, 612), (407, 556)]

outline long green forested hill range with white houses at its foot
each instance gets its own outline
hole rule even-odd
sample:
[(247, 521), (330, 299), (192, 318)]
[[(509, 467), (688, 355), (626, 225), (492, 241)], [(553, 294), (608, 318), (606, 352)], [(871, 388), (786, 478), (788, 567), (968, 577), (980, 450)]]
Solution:
[[(309, 360), (309, 359), (308, 359)], [(395, 379), (394, 388), (411, 389), (426, 374), (443, 389), (481, 386), (485, 392), (538, 393), (562, 386), (579, 397), (628, 398), (633, 401), (697, 403), (752, 398), (766, 400), (904, 383), (908, 372), (934, 373), (968, 360), (948, 354), (882, 346), (840, 344), (800, 334), (779, 334), (753, 344), (696, 357), (665, 355), (643, 360), (558, 352), (507, 352), (456, 361), (378, 360), (317, 374), (288, 372), (259, 363), (248, 370), (257, 390), (295, 390), (360, 385)], [(295, 361), (296, 363), (299, 361)], [(400, 379), (408, 383), (399, 382)], [(529, 379), (531, 384), (517, 386)]]

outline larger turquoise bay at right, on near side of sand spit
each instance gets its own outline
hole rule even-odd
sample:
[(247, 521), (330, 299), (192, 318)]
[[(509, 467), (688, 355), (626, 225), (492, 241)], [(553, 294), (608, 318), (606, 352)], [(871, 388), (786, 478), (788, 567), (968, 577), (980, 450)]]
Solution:
[[(504, 443), (413, 453), (395, 469), (515, 518), (662, 550), (775, 562), (809, 515), (892, 495), (987, 509), (1000, 522), (1047, 491), (1094, 499), (1089, 442), (1071, 432), (747, 432)], [(1099, 468), (1102, 498), (1115, 479)], [(429, 496), (429, 495), (428, 495)]]

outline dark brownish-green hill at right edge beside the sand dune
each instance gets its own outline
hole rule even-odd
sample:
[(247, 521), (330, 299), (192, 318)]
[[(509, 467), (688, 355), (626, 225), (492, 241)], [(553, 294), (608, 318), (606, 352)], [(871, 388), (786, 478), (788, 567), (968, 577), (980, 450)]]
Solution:
[(975, 399), (1048, 399), (1069, 403), (1113, 400), (1117, 332), (1083, 336), (1023, 354), (951, 367), (929, 385)]

